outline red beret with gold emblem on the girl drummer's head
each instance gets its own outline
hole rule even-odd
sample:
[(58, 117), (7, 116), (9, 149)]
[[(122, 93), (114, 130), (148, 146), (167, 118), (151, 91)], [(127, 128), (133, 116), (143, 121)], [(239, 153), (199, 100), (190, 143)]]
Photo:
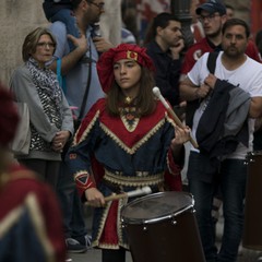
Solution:
[(110, 90), (114, 82), (114, 63), (121, 59), (135, 60), (142, 67), (155, 71), (154, 63), (146, 55), (145, 48), (132, 44), (120, 44), (102, 53), (97, 62), (97, 73), (105, 93)]

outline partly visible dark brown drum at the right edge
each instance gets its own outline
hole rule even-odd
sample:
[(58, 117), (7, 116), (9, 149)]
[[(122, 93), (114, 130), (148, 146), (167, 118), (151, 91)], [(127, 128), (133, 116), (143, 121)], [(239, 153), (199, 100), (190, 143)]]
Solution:
[(249, 153), (247, 164), (242, 246), (248, 249), (262, 250), (262, 152)]

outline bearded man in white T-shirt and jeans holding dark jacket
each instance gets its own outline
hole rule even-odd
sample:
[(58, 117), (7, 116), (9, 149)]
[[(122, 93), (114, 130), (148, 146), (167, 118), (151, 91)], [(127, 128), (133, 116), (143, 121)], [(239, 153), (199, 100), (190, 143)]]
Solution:
[[(222, 28), (224, 51), (214, 61), (214, 73), (207, 68), (210, 53), (204, 53), (180, 85), (182, 99), (200, 100), (192, 121), (192, 136), (200, 147), (190, 150), (187, 176), (206, 262), (237, 261), (242, 237), (245, 160), (252, 151), (254, 118), (262, 111), (262, 64), (245, 53), (249, 35), (246, 22), (226, 21)], [(217, 183), (224, 214), (218, 252), (211, 215)]]

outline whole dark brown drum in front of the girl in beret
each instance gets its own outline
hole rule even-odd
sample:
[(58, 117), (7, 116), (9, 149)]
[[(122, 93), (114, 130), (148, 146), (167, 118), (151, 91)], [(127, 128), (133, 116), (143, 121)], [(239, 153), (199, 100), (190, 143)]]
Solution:
[(133, 262), (204, 262), (192, 195), (159, 192), (121, 210)]

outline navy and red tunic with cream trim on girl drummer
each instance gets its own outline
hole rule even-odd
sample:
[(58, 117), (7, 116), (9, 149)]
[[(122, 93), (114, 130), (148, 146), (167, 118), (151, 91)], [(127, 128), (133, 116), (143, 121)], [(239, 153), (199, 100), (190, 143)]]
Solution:
[[(144, 186), (153, 191), (166, 186), (181, 190), (181, 165), (175, 163), (170, 150), (174, 136), (175, 122), (160, 102), (146, 117), (138, 117), (131, 106), (121, 108), (120, 117), (112, 117), (102, 98), (82, 121), (67, 162), (81, 194), (92, 187), (105, 196)], [(126, 203), (112, 201), (95, 209), (94, 247), (128, 248), (119, 216)]]

